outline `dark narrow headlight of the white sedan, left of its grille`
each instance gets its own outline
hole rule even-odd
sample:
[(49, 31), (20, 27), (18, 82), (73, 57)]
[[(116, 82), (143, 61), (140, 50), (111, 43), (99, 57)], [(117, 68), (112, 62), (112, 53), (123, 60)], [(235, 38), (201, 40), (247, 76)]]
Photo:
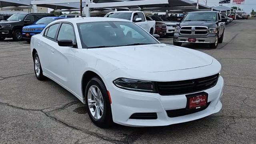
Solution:
[(114, 80), (114, 85), (126, 90), (140, 92), (156, 92), (154, 82), (144, 80), (133, 80), (128, 78), (118, 78)]

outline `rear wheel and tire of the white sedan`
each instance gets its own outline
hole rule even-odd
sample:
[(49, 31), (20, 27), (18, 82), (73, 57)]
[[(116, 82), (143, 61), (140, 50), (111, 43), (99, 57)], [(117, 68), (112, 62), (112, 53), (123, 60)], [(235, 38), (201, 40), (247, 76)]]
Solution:
[(34, 55), (34, 72), (38, 80), (42, 81), (45, 79), (45, 76), (43, 75), (42, 71), (42, 66), (39, 60), (39, 56), (37, 53)]

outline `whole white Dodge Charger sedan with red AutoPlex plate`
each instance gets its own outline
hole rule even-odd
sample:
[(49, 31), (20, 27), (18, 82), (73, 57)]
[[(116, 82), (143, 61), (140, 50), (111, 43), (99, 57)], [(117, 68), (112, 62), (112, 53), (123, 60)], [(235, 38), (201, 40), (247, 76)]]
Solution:
[(162, 44), (128, 20), (57, 20), (32, 37), (31, 52), (36, 78), (74, 94), (99, 127), (166, 126), (222, 108), (216, 59)]

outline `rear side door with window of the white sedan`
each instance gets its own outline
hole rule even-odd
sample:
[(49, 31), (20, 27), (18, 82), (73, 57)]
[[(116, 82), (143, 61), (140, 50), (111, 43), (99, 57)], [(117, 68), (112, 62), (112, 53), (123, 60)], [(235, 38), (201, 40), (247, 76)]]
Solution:
[(44, 31), (42, 39), (37, 42), (37, 46), (40, 49), (39, 57), (42, 59), (42, 70), (51, 77), (54, 77), (54, 66), (52, 65), (52, 59), (54, 58), (53, 48), (56, 46), (55, 39), (59, 26), (60, 23), (48, 26)]

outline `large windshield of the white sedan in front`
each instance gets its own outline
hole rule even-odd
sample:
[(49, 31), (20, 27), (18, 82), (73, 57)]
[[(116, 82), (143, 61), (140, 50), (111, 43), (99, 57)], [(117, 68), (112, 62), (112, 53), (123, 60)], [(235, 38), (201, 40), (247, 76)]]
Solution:
[(86, 22), (77, 25), (82, 48), (158, 44), (157, 40), (133, 22)]

